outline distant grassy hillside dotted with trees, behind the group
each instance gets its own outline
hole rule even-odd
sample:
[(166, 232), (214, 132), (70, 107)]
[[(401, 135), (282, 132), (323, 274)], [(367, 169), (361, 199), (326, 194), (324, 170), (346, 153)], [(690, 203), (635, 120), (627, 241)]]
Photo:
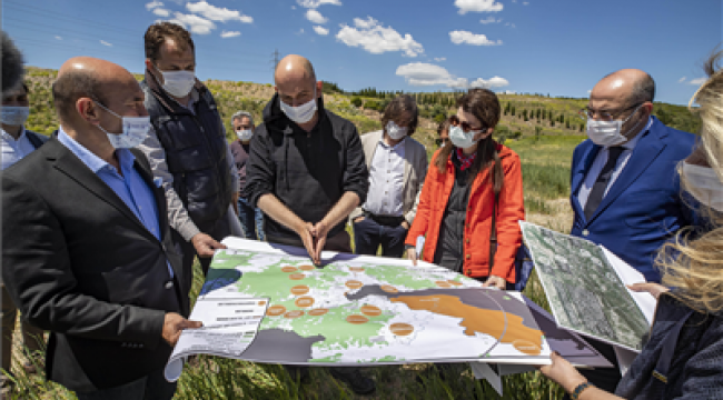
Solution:
[[(57, 70), (27, 68), (26, 81), (30, 88), (31, 104), (28, 128), (31, 130), (50, 134), (58, 127), (50, 91), (57, 74)], [(138, 80), (143, 78), (142, 74), (135, 77)], [(268, 83), (221, 80), (207, 80), (205, 83), (216, 98), (229, 140), (235, 139), (229, 118), (238, 110), (246, 110), (254, 114), (258, 123), (264, 107), (274, 96), (274, 88)], [(324, 86), (326, 108), (353, 121), (359, 133), (382, 129), (380, 111), (396, 94), (377, 93), (376, 90), (345, 93), (334, 83), (325, 82)], [(415, 139), (432, 150), (438, 121), (455, 112), (454, 100), (460, 93), (407, 94), (415, 97), (422, 116)], [(495, 138), (515, 140), (533, 136), (580, 136), (583, 139), (585, 136), (585, 121), (577, 111), (587, 103), (587, 99), (549, 98), (542, 94), (498, 94), (498, 98), (503, 116)], [(697, 132), (700, 129), (697, 117), (682, 106), (656, 102), (654, 114), (676, 129), (689, 132)]]

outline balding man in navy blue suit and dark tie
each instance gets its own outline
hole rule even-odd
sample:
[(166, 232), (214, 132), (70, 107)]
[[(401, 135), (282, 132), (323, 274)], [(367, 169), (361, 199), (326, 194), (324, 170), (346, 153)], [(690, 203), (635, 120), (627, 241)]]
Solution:
[[(647, 281), (660, 282), (656, 251), (693, 223), (675, 168), (691, 153), (695, 137), (652, 117), (654, 96), (651, 76), (635, 69), (595, 84), (581, 111), (590, 139), (573, 153), (570, 200), (575, 211), (571, 234), (604, 246)], [(616, 368), (587, 378), (613, 392), (621, 376), (612, 347), (592, 342)]]

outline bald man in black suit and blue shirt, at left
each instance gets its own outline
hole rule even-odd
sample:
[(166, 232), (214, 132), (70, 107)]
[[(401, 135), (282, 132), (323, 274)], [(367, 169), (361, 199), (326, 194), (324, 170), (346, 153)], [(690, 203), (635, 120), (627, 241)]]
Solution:
[[(162, 189), (142, 153), (143, 92), (73, 58), (52, 88), (58, 137), (2, 173), (2, 277), (50, 331), (46, 372), (79, 399), (170, 399), (162, 369), (188, 321)], [(122, 132), (122, 133), (118, 133)]]

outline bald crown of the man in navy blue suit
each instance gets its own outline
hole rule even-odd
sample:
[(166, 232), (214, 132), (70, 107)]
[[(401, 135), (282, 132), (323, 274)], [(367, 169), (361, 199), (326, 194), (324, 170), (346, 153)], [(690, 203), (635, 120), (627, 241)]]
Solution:
[(653, 102), (655, 81), (645, 71), (622, 69), (601, 79), (593, 88), (592, 97), (615, 98), (627, 106)]

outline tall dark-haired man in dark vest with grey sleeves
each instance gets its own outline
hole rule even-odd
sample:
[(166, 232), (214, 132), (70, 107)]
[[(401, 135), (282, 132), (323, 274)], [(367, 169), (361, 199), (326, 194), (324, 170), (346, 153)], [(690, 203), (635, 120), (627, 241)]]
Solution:
[(236, 217), (229, 216), (238, 199), (236, 166), (216, 101), (195, 77), (190, 33), (159, 22), (148, 28), (145, 42), (141, 87), (152, 129), (139, 149), (166, 191), (184, 270), (190, 270), (196, 253), (206, 274), (214, 250), (224, 248), (218, 241), (231, 233), (240, 236), (231, 230)]

